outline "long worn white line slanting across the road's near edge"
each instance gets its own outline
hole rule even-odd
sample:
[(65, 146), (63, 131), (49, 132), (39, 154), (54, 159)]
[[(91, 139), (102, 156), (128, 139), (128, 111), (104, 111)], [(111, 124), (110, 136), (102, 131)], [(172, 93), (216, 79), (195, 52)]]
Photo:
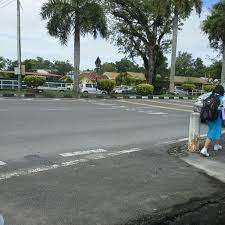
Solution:
[[(114, 157), (114, 156), (118, 156), (118, 155), (122, 155), (122, 154), (129, 154), (129, 153), (132, 153), (132, 152), (138, 152), (138, 151), (142, 151), (142, 149), (133, 148), (133, 149), (122, 150), (122, 151), (113, 152), (113, 153), (106, 153), (105, 155), (95, 155), (93, 157), (88, 156), (85, 159), (78, 159), (78, 160), (63, 162), (63, 163), (60, 163), (60, 164), (54, 164), (54, 165), (51, 165), (51, 166), (39, 167), (39, 168), (35, 168), (35, 169), (15, 170), (13, 172), (0, 174), (0, 180), (7, 180), (7, 179), (10, 179), (10, 178), (13, 178), (13, 177), (20, 177), (20, 176), (37, 174), (37, 173), (40, 173), (40, 172), (54, 170), (54, 169), (61, 168), (61, 167), (69, 167), (69, 166), (72, 166), (72, 165), (77, 165), (79, 163), (85, 163), (85, 162), (88, 162), (88, 161), (93, 160), (93, 159), (95, 159), (95, 160), (105, 159), (105, 158), (108, 158), (108, 157)], [(101, 154), (103, 154), (103, 153), (101, 153)]]

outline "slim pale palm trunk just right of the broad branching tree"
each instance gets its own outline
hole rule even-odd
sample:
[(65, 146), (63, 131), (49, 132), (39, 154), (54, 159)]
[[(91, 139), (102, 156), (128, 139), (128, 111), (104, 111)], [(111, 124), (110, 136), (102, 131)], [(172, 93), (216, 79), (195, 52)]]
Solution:
[(173, 21), (173, 43), (170, 70), (170, 92), (174, 93), (174, 77), (176, 74), (176, 58), (177, 58), (177, 34), (178, 34), (178, 12), (175, 10)]

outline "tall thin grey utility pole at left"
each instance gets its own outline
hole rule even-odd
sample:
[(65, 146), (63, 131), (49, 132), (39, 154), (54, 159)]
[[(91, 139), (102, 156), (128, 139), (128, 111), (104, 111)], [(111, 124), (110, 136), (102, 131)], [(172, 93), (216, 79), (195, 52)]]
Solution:
[(17, 61), (18, 61), (18, 89), (21, 89), (22, 65), (21, 65), (21, 30), (20, 30), (20, 0), (17, 0)]

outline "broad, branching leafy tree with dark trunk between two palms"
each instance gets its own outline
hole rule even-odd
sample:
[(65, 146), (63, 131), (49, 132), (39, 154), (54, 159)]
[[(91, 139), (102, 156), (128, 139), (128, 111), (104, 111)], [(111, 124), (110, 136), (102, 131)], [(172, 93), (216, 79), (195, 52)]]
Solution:
[(108, 0), (114, 18), (113, 37), (131, 58), (141, 57), (146, 80), (153, 83), (158, 53), (168, 47), (170, 5), (165, 0)]

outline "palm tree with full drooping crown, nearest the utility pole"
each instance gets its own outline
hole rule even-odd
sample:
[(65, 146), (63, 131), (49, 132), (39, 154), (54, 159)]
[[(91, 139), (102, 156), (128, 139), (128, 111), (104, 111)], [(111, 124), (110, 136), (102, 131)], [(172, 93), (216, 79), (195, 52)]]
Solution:
[(70, 35), (74, 38), (74, 89), (78, 91), (80, 69), (80, 36), (98, 33), (107, 36), (107, 22), (103, 7), (96, 0), (48, 0), (41, 9), (41, 16), (48, 20), (51, 36), (67, 45)]

